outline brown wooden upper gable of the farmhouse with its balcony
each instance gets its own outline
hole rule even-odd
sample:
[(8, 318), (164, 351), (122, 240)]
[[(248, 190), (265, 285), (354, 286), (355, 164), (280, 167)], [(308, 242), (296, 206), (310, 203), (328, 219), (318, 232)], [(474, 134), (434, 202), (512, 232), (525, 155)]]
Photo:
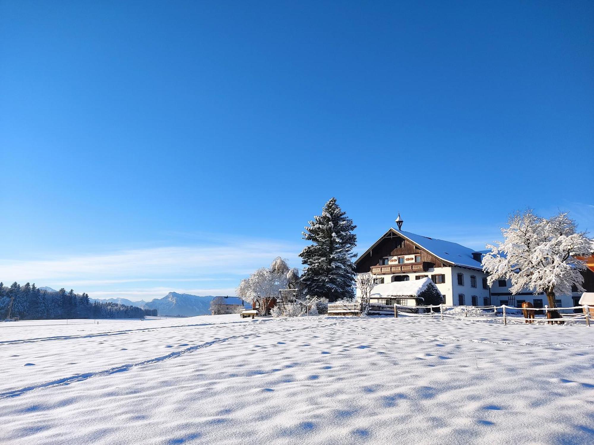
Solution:
[[(406, 259), (410, 260), (412, 255), (420, 256), (420, 261), (415, 258), (413, 261), (406, 261), (402, 264), (393, 262), (382, 264), (383, 259), (386, 257), (405, 256)], [(443, 262), (427, 250), (390, 230), (371, 249), (356, 260), (355, 266), (355, 271), (358, 274), (371, 272), (374, 275), (382, 275), (426, 272), (429, 268), (447, 267), (451, 266), (451, 264)]]

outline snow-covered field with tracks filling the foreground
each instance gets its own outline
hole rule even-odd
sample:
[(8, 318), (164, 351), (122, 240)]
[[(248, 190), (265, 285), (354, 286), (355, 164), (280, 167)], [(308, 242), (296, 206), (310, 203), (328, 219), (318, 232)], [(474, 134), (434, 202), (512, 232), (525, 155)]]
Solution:
[(594, 443), (594, 327), (0, 323), (0, 443)]

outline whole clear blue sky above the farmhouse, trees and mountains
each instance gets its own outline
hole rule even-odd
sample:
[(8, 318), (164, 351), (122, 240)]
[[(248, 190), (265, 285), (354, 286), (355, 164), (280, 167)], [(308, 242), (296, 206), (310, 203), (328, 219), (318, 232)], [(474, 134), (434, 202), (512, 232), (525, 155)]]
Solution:
[(331, 196), (363, 252), (594, 230), (592, 2), (0, 0), (0, 280), (232, 294)]

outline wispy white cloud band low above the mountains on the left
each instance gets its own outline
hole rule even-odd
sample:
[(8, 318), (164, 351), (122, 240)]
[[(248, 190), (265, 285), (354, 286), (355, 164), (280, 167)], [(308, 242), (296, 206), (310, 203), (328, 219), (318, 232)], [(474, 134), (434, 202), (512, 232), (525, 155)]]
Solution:
[[(233, 294), (239, 279), (276, 256), (298, 265), (297, 244), (271, 240), (210, 240), (208, 245), (116, 250), (30, 260), (0, 259), (0, 279), (72, 287), (95, 298), (162, 297), (169, 291)], [(214, 244), (216, 243), (216, 244)], [(186, 287), (184, 283), (194, 282)], [(208, 284), (197, 287), (198, 282)], [(144, 287), (143, 283), (152, 283)], [(156, 285), (156, 286), (155, 286)], [(102, 296), (99, 296), (102, 295)]]

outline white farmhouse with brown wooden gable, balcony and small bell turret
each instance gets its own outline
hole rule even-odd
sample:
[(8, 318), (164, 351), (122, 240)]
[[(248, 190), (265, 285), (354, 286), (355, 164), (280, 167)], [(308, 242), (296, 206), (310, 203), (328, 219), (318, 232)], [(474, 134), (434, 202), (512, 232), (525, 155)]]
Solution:
[[(355, 261), (358, 274), (371, 272), (377, 284), (430, 278), (448, 306), (491, 304), (482, 253), (451, 241), (438, 240), (390, 228)], [(381, 304), (399, 303), (388, 287), (375, 286), (374, 300)], [(357, 297), (361, 298), (359, 290)]]

